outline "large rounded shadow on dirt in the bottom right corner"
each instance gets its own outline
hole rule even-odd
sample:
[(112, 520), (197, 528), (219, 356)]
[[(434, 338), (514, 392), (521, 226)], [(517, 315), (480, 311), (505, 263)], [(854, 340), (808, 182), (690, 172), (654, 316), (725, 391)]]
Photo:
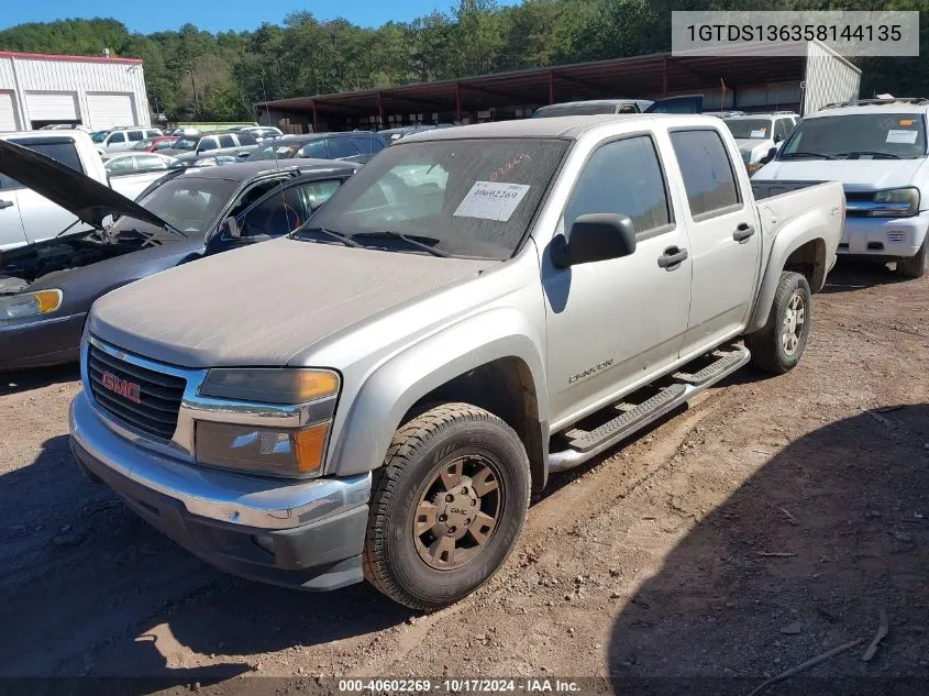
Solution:
[[(621, 684), (745, 696), (864, 639), (764, 693), (928, 693), (929, 405), (877, 416), (787, 445), (694, 528), (612, 628)], [(882, 609), (889, 634), (863, 662)]]

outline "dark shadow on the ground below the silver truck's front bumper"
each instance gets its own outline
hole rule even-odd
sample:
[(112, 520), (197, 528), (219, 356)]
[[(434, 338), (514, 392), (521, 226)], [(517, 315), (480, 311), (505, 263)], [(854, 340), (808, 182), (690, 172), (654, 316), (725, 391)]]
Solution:
[[(87, 480), (65, 435), (0, 477), (0, 595), (13, 598), (0, 603), (0, 676), (196, 677), (206, 685), (251, 672), (252, 655), (411, 616), (367, 585), (309, 594), (213, 570)], [(212, 664), (200, 666), (198, 655)], [(265, 667), (275, 669), (286, 670)], [(139, 682), (139, 693), (150, 686)]]

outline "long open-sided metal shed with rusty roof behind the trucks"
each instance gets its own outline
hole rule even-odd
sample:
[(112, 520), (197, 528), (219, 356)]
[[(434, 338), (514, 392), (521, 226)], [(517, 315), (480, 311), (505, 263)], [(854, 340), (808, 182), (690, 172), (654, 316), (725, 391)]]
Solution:
[(386, 89), (278, 99), (256, 104), (259, 121), (285, 131), (378, 129), (411, 123), (476, 123), (528, 117), (583, 99), (703, 95), (704, 110), (810, 113), (856, 99), (861, 70), (819, 42), (804, 55), (757, 46), (720, 53), (653, 54)]

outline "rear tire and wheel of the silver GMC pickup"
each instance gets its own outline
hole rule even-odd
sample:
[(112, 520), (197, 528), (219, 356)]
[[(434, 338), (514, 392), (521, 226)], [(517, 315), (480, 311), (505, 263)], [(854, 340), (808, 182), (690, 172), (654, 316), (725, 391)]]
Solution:
[(767, 322), (760, 331), (745, 336), (745, 346), (752, 352), (752, 364), (774, 375), (783, 375), (796, 367), (809, 336), (810, 310), (807, 279), (799, 273), (782, 273)]

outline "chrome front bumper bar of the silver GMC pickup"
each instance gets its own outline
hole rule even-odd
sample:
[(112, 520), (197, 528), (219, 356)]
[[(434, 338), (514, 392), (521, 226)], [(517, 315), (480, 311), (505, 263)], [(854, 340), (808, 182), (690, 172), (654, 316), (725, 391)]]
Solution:
[(101, 420), (85, 391), (71, 402), (69, 419), (75, 443), (100, 465), (199, 518), (283, 530), (366, 508), (371, 497), (369, 473), (295, 482), (211, 469), (140, 448)]

